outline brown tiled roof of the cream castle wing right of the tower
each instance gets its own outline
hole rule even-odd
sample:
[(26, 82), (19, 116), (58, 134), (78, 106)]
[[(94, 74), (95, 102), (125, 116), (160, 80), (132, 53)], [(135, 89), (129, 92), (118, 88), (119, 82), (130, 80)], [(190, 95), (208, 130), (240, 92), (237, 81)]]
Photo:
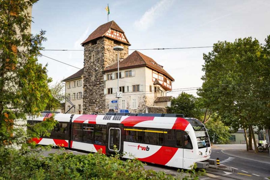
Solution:
[[(166, 75), (167, 77), (169, 77), (171, 80), (174, 81), (173, 77), (169, 73), (167, 73), (161, 65), (159, 65), (152, 58), (140, 53), (139, 51), (132, 52), (131, 55), (129, 55), (123, 61), (119, 62), (119, 69), (128, 69), (132, 67), (143, 67), (143, 66), (158, 71), (159, 73), (163, 73), (164, 75)], [(112, 64), (111, 66), (108, 66), (104, 70), (104, 72), (110, 72), (114, 70), (117, 70), (117, 62)]]

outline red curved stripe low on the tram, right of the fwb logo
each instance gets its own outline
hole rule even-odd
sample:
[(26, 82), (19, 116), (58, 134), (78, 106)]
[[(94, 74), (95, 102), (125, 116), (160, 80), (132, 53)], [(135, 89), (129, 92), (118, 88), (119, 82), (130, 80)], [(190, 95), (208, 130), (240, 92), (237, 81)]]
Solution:
[(155, 154), (147, 158), (138, 158), (140, 161), (165, 165), (175, 155), (178, 148), (162, 146)]

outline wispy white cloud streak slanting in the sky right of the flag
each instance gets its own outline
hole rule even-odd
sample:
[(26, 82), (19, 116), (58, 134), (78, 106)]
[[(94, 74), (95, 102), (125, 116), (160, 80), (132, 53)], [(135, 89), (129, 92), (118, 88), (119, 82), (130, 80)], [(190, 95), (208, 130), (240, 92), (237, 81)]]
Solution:
[(161, 0), (150, 9), (148, 9), (143, 16), (134, 22), (134, 25), (141, 30), (148, 29), (159, 16), (161, 16), (173, 4), (174, 0)]

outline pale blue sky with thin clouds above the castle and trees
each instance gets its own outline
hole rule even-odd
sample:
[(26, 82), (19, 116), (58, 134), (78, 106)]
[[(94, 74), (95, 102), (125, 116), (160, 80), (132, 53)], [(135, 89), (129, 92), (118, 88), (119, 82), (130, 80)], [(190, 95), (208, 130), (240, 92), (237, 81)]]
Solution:
[[(109, 21), (124, 30), (129, 49), (212, 46), (218, 41), (253, 37), (264, 43), (270, 35), (270, 1), (268, 0), (39, 0), (33, 5), (32, 34), (46, 31), (45, 49), (78, 49), (98, 26)], [(153, 58), (175, 79), (173, 89), (202, 85), (203, 53), (212, 48), (139, 50)], [(131, 54), (134, 50), (130, 50)], [(43, 55), (83, 67), (83, 51), (42, 51)], [(53, 83), (79, 69), (46, 57)], [(185, 91), (196, 95), (196, 90)], [(168, 95), (177, 96), (180, 92)]]

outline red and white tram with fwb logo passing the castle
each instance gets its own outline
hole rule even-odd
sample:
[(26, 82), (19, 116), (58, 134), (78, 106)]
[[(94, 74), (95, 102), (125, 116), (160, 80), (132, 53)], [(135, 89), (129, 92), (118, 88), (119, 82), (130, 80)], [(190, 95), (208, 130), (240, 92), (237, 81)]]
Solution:
[[(111, 114), (111, 113), (108, 113)], [(38, 123), (51, 114), (28, 118)], [(170, 167), (190, 169), (210, 158), (211, 147), (204, 125), (194, 118), (157, 117), (164, 114), (71, 115), (55, 114), (58, 121), (50, 137), (34, 138), (37, 144), (110, 155), (115, 151), (124, 158)], [(124, 114), (125, 115), (125, 114)], [(133, 116), (132, 116), (133, 115)], [(165, 115), (166, 116), (166, 115)], [(200, 162), (200, 163), (199, 163)]]

